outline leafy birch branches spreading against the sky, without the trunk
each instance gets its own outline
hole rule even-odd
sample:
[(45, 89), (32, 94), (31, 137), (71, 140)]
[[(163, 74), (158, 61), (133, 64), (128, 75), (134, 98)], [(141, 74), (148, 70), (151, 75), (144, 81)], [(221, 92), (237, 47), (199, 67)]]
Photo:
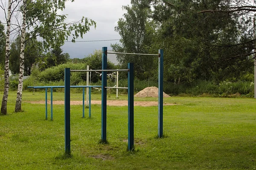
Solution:
[(60, 11), (64, 10), (66, 2), (67, 0), (27, 0), (27, 32), (31, 37), (41, 37), (44, 49), (58, 48), (68, 37), (72, 37), (72, 42), (75, 42), (78, 37), (83, 38), (91, 26), (96, 27), (96, 22), (86, 17), (65, 23), (67, 15)]

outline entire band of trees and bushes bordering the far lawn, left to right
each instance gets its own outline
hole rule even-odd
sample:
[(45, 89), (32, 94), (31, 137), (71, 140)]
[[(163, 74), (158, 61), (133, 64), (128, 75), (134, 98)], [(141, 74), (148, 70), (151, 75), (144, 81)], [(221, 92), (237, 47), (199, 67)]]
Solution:
[[(115, 28), (120, 43), (111, 47), (116, 52), (143, 54), (163, 49), (167, 94), (253, 97), (254, 5), (254, 0), (131, 0), (131, 6), (123, 6), (126, 13)], [(3, 75), (6, 42), (2, 24), (0, 34)], [(24, 75), (30, 78), (24, 80), (24, 90), (33, 85), (63, 85), (66, 67), (101, 69), (101, 51), (70, 59), (60, 45), (44, 49), (36, 38), (26, 37)], [(17, 36), (10, 48), (13, 75), (19, 73), (20, 39)], [(134, 62), (136, 91), (157, 86), (158, 58), (118, 55), (117, 60), (118, 65), (108, 62), (108, 67), (122, 69)], [(119, 79), (119, 86), (125, 87), (126, 75), (120, 74)], [(99, 85), (100, 80), (99, 74), (92, 74), (92, 84)], [(85, 81), (82, 73), (71, 77), (72, 85)], [(0, 83), (3, 91), (3, 78)], [(114, 79), (109, 83), (114, 85)], [(18, 78), (10, 77), (10, 89), (16, 91), (17, 85)]]

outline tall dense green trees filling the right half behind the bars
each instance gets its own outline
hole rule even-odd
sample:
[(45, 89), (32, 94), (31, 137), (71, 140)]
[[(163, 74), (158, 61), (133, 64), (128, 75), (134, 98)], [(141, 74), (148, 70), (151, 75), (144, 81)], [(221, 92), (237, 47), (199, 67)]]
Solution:
[[(253, 74), (255, 0), (131, 0), (115, 30), (116, 52), (164, 50), (164, 79), (179, 84), (238, 81)], [(118, 55), (134, 62), (139, 79), (157, 79), (157, 58)]]

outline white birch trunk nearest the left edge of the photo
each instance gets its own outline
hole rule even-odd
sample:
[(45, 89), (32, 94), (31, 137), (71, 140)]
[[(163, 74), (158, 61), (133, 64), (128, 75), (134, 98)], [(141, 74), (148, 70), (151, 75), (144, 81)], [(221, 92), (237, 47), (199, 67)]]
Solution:
[(4, 115), (7, 114), (7, 100), (8, 100), (8, 93), (9, 93), (11, 10), (12, 10), (12, 3), (11, 3), (11, 0), (8, 0), (7, 26), (6, 26), (6, 59), (5, 59), (5, 69), (4, 69), (4, 91), (3, 91), (3, 100), (1, 105), (1, 113)]

